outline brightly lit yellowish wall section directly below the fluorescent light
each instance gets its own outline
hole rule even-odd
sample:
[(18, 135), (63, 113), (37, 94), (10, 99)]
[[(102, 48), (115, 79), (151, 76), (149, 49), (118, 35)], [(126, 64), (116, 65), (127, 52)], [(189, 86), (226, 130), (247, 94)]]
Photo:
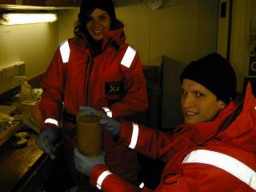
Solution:
[[(28, 78), (42, 74), (57, 46), (58, 22), (0, 26), (0, 69), (16, 62), (25, 62)], [(14, 78), (2, 79), (2, 91), (3, 84), (5, 90), (18, 85)]]

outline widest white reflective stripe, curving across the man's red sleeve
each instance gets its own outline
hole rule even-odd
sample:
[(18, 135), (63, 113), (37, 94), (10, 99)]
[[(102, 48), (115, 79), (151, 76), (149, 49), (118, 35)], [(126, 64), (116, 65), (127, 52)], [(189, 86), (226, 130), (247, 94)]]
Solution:
[(217, 166), (233, 174), (234, 177), (239, 178), (242, 182), (245, 182), (248, 186), (256, 190), (256, 172), (250, 169), (249, 166), (246, 166), (246, 164), (238, 161), (238, 159), (226, 154), (211, 150), (194, 150), (186, 155), (183, 163), (205, 163), (211, 166)]

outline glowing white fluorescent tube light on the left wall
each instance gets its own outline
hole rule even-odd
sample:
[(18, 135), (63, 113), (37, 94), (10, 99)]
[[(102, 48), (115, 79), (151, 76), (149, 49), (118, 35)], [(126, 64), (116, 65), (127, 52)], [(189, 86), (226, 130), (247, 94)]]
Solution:
[(56, 14), (3, 14), (1, 25), (19, 25), (38, 22), (55, 22)]

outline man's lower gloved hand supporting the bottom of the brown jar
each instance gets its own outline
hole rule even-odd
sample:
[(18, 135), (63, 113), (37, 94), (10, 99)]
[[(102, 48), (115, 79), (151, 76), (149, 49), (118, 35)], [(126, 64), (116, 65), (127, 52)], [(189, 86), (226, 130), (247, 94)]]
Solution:
[(79, 173), (86, 176), (90, 176), (90, 171), (94, 168), (94, 166), (99, 164), (105, 164), (104, 158), (104, 153), (99, 155), (98, 157), (90, 158), (81, 154), (78, 148), (74, 148), (75, 169), (78, 170)]

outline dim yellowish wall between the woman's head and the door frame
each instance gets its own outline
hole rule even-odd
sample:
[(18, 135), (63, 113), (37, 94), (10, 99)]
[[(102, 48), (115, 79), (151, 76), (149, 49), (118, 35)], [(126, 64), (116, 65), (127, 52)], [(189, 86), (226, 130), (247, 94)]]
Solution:
[(116, 10), (142, 65), (158, 66), (162, 55), (187, 63), (216, 50), (218, 1), (166, 0), (159, 10), (140, 3)]

